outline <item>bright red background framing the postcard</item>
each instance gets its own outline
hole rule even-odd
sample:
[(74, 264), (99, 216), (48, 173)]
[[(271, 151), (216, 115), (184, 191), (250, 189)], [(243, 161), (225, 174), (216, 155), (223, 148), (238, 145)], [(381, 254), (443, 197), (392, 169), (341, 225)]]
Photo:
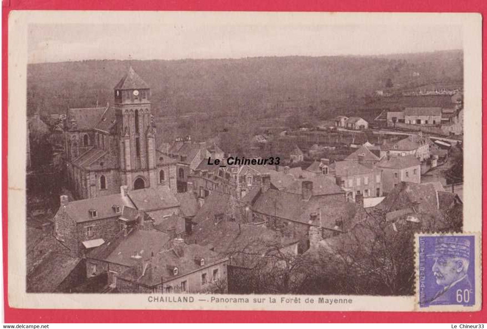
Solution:
[[(328, 3), (330, 2), (330, 3)], [(188, 11), (374, 11), (374, 12), (478, 12), (487, 14), (486, 0), (3, 0), (2, 13), (2, 218), (3, 218), (3, 278), (5, 322), (7, 323), (69, 323), (69, 322), (443, 322), (474, 324), (487, 322), (484, 307), (478, 312), (414, 313), (414, 312), (331, 312), (331, 311), (127, 311), (127, 310), (34, 310), (13, 309), (7, 301), (7, 35), (11, 10), (188, 10)], [(486, 25), (483, 25), (483, 65), (486, 63)], [(483, 74), (483, 96), (487, 78)], [(483, 102), (485, 105), (485, 102)], [(484, 106), (483, 106), (484, 108)], [(482, 127), (485, 130), (486, 117)], [(483, 140), (486, 136), (483, 134)], [(486, 152), (483, 171), (486, 169)], [(483, 180), (485, 183), (485, 180)], [(483, 188), (485, 190), (485, 188)], [(487, 198), (483, 194), (483, 211)], [(487, 236), (486, 225), (483, 235)], [(483, 243), (483, 255), (487, 244)], [(483, 256), (483, 262), (485, 256)], [(487, 271), (483, 271), (486, 282)], [(18, 279), (18, 278), (15, 278)], [(486, 285), (483, 291), (486, 292)], [(483, 294), (483, 296), (485, 293)], [(483, 303), (485, 299), (483, 298)]]

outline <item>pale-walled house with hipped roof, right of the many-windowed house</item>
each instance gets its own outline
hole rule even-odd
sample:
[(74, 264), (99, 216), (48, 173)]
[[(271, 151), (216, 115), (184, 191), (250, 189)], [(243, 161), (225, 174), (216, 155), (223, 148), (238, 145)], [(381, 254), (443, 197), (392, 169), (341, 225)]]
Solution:
[(412, 155), (386, 155), (376, 164), (382, 169), (384, 193), (389, 193), (400, 182), (421, 183), (421, 163)]

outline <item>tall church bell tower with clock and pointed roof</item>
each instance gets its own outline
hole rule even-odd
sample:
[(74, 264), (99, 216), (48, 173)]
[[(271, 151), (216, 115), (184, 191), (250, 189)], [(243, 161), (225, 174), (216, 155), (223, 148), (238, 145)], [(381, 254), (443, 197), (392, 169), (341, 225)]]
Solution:
[(114, 107), (122, 183), (131, 189), (149, 187), (150, 170), (156, 167), (150, 88), (132, 67), (114, 88)]

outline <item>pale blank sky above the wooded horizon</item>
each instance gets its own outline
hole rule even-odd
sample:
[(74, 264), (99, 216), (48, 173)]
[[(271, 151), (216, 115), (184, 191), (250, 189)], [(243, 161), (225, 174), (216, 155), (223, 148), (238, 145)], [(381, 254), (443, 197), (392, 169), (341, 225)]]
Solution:
[(29, 63), (386, 55), (462, 49), (459, 25), (33, 24)]

